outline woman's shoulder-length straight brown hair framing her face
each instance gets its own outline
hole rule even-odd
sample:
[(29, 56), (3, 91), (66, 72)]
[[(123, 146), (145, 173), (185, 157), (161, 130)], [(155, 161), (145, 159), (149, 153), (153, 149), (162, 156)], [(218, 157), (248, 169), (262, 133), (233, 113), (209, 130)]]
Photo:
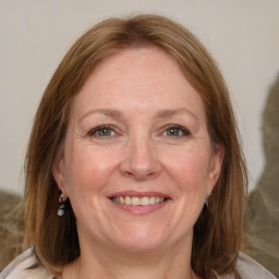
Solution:
[(192, 268), (209, 278), (234, 270), (242, 239), (246, 170), (223, 78), (210, 54), (187, 29), (159, 15), (106, 20), (86, 32), (69, 50), (49, 82), (26, 156), (26, 235), (41, 264), (59, 272), (80, 255), (75, 216), (57, 216), (59, 189), (51, 168), (63, 146), (71, 102), (96, 64), (120, 49), (157, 46), (179, 64), (201, 94), (213, 143), (225, 147), (220, 178), (194, 227)]

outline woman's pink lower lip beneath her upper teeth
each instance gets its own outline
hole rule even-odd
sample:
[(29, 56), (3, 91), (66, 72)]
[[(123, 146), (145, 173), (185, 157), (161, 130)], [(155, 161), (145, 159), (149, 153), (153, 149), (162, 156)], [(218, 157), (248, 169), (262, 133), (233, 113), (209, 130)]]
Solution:
[(151, 214), (156, 210), (161, 209), (169, 203), (169, 199), (160, 204), (154, 204), (154, 205), (125, 205), (125, 204), (116, 203), (113, 201), (111, 202), (113, 203), (114, 206), (128, 213), (135, 214), (135, 215), (146, 215), (146, 214)]

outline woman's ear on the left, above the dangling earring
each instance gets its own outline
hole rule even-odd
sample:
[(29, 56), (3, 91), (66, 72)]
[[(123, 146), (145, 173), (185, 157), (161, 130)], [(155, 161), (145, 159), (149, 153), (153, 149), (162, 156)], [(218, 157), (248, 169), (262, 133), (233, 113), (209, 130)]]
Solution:
[(63, 195), (64, 195), (63, 199), (65, 201), (68, 198), (68, 190), (66, 190), (65, 163), (64, 163), (64, 157), (62, 155), (58, 156), (54, 159), (52, 163), (51, 172), (60, 191), (62, 191), (63, 189)]

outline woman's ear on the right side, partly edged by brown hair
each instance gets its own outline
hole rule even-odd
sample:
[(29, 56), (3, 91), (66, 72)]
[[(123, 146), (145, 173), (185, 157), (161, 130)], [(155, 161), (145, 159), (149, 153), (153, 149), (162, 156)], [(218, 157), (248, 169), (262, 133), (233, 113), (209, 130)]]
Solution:
[(213, 146), (211, 161), (208, 169), (207, 195), (209, 196), (220, 177), (222, 168), (222, 159), (225, 156), (225, 147), (220, 144)]

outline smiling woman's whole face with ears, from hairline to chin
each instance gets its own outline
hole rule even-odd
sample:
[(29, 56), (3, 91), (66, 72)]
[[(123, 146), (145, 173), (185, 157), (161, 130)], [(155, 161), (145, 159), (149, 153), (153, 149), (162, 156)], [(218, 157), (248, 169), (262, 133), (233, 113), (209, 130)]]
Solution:
[[(191, 247), (220, 171), (203, 101), (155, 47), (102, 61), (74, 99), (53, 168), (76, 216), (81, 247)], [(96, 245), (97, 246), (97, 245)]]

